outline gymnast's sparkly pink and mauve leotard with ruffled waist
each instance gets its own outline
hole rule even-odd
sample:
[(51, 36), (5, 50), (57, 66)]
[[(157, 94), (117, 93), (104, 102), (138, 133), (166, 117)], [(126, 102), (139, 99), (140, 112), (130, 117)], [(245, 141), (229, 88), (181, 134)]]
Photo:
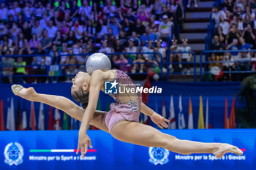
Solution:
[[(121, 70), (116, 69), (116, 82), (118, 86), (136, 88), (132, 79)], [(110, 111), (106, 115), (105, 123), (110, 131), (113, 125), (121, 120), (139, 122), (141, 93), (117, 93), (111, 94), (116, 103), (110, 104)]]

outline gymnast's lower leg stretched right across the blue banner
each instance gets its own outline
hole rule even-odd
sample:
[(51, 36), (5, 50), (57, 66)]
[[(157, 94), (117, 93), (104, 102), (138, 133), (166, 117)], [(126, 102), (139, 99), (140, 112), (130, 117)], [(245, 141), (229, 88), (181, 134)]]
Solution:
[(180, 140), (169, 134), (164, 134), (149, 125), (129, 121), (116, 123), (111, 129), (110, 134), (123, 142), (139, 144), (146, 147), (163, 147), (184, 155), (191, 153), (213, 153), (217, 158), (221, 158), (226, 152), (234, 152), (237, 155), (243, 153), (237, 147), (230, 144)]

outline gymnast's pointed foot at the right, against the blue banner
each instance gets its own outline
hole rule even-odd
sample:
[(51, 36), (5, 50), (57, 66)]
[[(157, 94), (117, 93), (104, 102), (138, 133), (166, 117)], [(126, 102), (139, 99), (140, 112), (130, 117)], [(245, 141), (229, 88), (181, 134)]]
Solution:
[(214, 155), (217, 158), (222, 158), (223, 155), (227, 152), (235, 153), (236, 155), (243, 155), (243, 151), (241, 151), (238, 147), (233, 146), (231, 144), (219, 144), (217, 150), (214, 150)]

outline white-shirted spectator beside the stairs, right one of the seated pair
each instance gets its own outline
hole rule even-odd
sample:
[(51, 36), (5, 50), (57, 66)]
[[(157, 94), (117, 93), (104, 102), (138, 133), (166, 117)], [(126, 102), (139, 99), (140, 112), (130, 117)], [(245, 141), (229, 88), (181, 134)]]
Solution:
[[(179, 50), (181, 52), (189, 52), (191, 51), (191, 47), (187, 45), (187, 39), (181, 39), (182, 46), (179, 47)], [(192, 53), (181, 53), (181, 61), (182, 62), (190, 62), (192, 58)], [(182, 63), (182, 67), (185, 69), (184, 72), (187, 72), (187, 74), (190, 74), (190, 63)]]

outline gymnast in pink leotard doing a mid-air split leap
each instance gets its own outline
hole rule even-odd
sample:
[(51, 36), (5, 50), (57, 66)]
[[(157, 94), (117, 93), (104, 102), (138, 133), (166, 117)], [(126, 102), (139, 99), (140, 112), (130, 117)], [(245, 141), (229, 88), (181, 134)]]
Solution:
[(69, 116), (80, 120), (78, 151), (82, 158), (87, 152), (88, 145), (92, 148), (91, 139), (86, 131), (90, 125), (110, 133), (114, 138), (145, 147), (163, 147), (172, 152), (183, 155), (192, 153), (212, 153), (221, 158), (225, 153), (232, 152), (242, 155), (238, 147), (224, 143), (203, 143), (177, 139), (169, 134), (149, 125), (139, 123), (140, 112), (151, 117), (151, 120), (160, 128), (167, 128), (169, 122), (165, 117), (158, 115), (141, 102), (140, 93), (112, 94), (116, 103), (110, 104), (109, 112), (97, 111), (97, 101), (100, 90), (105, 91), (105, 81), (115, 81), (125, 88), (133, 88), (135, 84), (127, 74), (120, 70), (95, 70), (91, 75), (87, 72), (78, 72), (72, 79), (71, 93), (75, 101), (82, 104), (79, 107), (68, 98), (37, 93), (34, 88), (23, 88), (21, 85), (12, 85), (12, 92), (29, 101), (38, 101), (61, 109)]

